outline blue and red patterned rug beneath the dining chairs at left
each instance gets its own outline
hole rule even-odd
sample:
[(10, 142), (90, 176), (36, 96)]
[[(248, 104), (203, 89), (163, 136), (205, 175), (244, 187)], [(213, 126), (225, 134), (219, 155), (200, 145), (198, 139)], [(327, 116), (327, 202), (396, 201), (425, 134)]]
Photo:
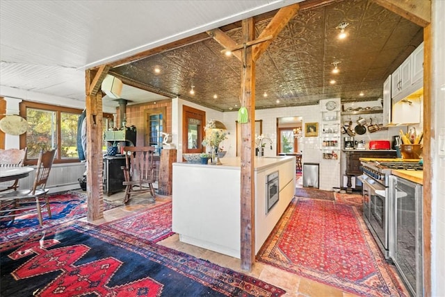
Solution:
[[(42, 231), (53, 226), (86, 217), (86, 194), (68, 191), (49, 195), (51, 204), (51, 218), (47, 215), (47, 208), (42, 208), (43, 226), (40, 226), (37, 211), (30, 210), (15, 217), (13, 223), (10, 219), (0, 221), (0, 242), (9, 241), (29, 235), (32, 232)], [(104, 201), (104, 210), (118, 207), (122, 203), (108, 203)]]

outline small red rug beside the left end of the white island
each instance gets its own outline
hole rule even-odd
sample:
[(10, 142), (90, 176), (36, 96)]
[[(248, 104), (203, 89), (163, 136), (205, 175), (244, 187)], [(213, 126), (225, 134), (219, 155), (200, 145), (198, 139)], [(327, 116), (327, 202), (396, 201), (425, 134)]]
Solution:
[(102, 228), (113, 228), (152, 242), (161, 241), (175, 234), (172, 232), (172, 201), (102, 224)]

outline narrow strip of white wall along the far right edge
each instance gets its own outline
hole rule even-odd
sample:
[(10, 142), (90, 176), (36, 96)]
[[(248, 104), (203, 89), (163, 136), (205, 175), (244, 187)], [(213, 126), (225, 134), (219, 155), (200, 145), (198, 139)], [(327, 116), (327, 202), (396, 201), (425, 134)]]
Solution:
[[(445, 1), (432, 1), (431, 296), (445, 296)], [(436, 133), (436, 134), (435, 134)], [(429, 197), (428, 197), (429, 198)]]

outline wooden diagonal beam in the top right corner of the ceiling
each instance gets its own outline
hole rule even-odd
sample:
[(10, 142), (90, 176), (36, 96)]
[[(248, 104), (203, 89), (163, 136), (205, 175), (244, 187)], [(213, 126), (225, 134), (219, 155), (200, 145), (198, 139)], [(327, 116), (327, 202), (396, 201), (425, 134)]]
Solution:
[(430, 0), (373, 0), (387, 10), (423, 28), (431, 23)]

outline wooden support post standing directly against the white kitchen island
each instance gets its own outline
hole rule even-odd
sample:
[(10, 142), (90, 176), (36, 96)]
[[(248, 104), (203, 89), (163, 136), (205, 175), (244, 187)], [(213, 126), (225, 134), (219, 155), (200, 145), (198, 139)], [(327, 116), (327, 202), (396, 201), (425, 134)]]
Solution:
[[(252, 18), (243, 19), (243, 43), (254, 39)], [(241, 98), (248, 110), (248, 123), (241, 124), (241, 269), (252, 271), (255, 262), (254, 119), (255, 63), (252, 47), (242, 51)]]

